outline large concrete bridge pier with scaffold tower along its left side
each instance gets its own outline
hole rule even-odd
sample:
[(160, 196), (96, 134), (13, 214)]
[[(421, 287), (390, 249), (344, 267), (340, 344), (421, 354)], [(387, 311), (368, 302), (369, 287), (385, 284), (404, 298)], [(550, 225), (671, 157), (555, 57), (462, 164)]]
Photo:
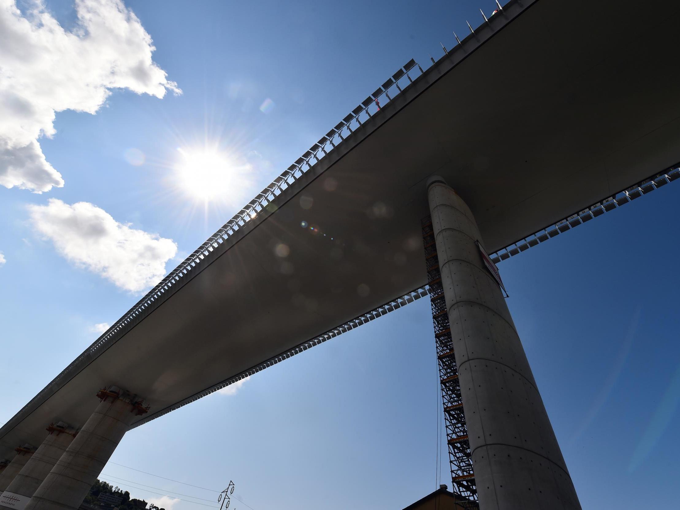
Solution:
[(428, 200), (479, 507), (581, 509), (475, 218), (441, 177)]

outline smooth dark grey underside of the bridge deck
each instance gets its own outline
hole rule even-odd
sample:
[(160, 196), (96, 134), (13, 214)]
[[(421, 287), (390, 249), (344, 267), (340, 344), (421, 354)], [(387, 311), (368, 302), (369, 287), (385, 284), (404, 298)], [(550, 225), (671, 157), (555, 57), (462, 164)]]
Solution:
[(676, 163), (668, 12), (666, 1), (539, 0), (460, 63), (466, 50), (450, 52), (282, 194), (277, 211), (0, 430), (0, 458), (39, 444), (51, 421), (82, 426), (102, 386), (162, 411), (424, 285), (428, 175), (464, 197), (493, 252)]

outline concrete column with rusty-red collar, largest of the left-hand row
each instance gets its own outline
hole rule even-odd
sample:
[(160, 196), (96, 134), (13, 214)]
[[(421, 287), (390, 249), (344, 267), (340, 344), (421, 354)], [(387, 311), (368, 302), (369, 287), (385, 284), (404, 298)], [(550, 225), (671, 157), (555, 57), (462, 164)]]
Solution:
[(25, 510), (77, 510), (126, 430), (148, 407), (137, 395), (111, 386), (101, 403), (54, 464)]

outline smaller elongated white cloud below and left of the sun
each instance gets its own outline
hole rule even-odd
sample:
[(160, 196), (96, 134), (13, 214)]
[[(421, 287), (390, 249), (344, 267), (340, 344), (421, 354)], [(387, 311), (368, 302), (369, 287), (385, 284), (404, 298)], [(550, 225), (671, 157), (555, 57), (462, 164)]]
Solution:
[(29, 205), (29, 212), (35, 231), (50, 239), (59, 254), (130, 292), (156, 284), (166, 274), (165, 262), (177, 252), (172, 239), (118, 223), (88, 202), (68, 205), (50, 199), (48, 205)]

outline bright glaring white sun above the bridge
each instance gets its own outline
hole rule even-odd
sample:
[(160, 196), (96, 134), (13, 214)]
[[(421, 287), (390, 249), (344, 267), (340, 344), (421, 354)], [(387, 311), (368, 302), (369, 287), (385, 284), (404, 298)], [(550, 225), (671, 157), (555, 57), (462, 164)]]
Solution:
[(229, 197), (239, 186), (239, 165), (228, 153), (216, 149), (184, 150), (175, 165), (180, 188), (199, 201)]

